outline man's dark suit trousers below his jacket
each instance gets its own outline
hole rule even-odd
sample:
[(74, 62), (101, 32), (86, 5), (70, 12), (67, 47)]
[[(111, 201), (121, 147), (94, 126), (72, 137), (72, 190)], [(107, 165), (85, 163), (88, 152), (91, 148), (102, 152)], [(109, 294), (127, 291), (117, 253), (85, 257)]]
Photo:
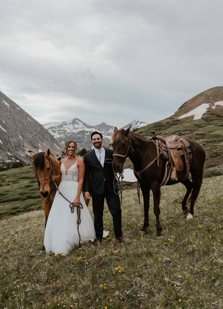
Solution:
[(92, 195), (92, 208), (94, 213), (94, 229), (97, 239), (103, 236), (103, 211), (104, 202), (107, 202), (108, 209), (113, 218), (115, 237), (122, 237), (122, 210), (118, 194), (109, 192), (106, 184), (103, 194)]

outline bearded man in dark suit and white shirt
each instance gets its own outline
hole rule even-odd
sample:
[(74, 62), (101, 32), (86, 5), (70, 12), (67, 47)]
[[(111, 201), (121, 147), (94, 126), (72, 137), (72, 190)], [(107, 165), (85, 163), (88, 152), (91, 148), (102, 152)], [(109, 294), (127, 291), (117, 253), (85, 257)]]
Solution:
[(105, 162), (105, 159), (113, 159), (113, 151), (102, 146), (103, 137), (97, 131), (91, 133), (91, 142), (94, 146), (93, 150), (84, 155), (85, 178), (83, 188), (86, 199), (90, 199), (90, 194), (92, 195), (96, 238), (101, 242), (103, 236), (104, 201), (106, 199), (108, 209), (113, 218), (115, 237), (119, 242), (123, 242), (122, 210), (119, 196), (114, 193), (114, 173), (112, 165)]

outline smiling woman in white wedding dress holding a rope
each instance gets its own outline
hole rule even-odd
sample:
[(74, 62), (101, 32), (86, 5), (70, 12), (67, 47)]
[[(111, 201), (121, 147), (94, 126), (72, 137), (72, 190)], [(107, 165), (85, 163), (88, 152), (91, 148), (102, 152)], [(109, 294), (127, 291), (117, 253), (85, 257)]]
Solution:
[[(60, 175), (53, 175), (52, 178), (61, 180), (60, 192), (69, 201), (74, 201), (74, 206), (78, 206), (79, 203), (83, 205), (79, 225), (81, 243), (88, 240), (93, 242), (96, 238), (94, 225), (82, 195), (85, 164), (83, 159), (75, 155), (77, 149), (75, 141), (66, 142), (64, 149), (67, 156), (60, 161)], [(70, 203), (64, 197), (56, 192), (44, 236), (46, 252), (52, 251), (55, 255), (67, 254), (71, 248), (79, 246), (77, 207), (74, 207), (74, 212), (71, 213)]]

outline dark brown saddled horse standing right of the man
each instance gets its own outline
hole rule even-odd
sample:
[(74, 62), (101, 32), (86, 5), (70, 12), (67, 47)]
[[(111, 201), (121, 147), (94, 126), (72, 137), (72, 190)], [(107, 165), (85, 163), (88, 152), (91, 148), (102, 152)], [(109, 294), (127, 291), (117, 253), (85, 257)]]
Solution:
[[(129, 157), (132, 161), (135, 171), (142, 171), (147, 166), (147, 164), (151, 163), (157, 157), (155, 143), (152, 140), (148, 140), (139, 134), (130, 132), (130, 127), (126, 130), (118, 130), (115, 127), (114, 133), (111, 137), (114, 153), (112, 167), (116, 173), (121, 173), (123, 171), (123, 164), (126, 160), (126, 157)], [(189, 138), (186, 140), (190, 143), (192, 146), (191, 148), (193, 149), (192, 152), (189, 153), (188, 158), (192, 181), (190, 181), (187, 177), (186, 163), (185, 160), (182, 159), (184, 167), (182, 171), (178, 171), (178, 180), (171, 181), (169, 179), (166, 184), (171, 185), (181, 182), (186, 187), (187, 192), (182, 201), (182, 212), (183, 214), (188, 213), (187, 219), (189, 220), (192, 218), (194, 213), (194, 203), (200, 192), (200, 187), (204, 177), (205, 152), (204, 148), (197, 142)], [(160, 155), (159, 166), (157, 161), (154, 161), (150, 167), (142, 172), (141, 178), (134, 171), (134, 174), (138, 179), (142, 190), (144, 202), (144, 224), (140, 229), (140, 233), (146, 233), (147, 227), (149, 226), (149, 199), (150, 190), (152, 190), (154, 201), (153, 210), (156, 216), (156, 236), (162, 236), (162, 227), (159, 222), (159, 201), (161, 196), (160, 186), (164, 178), (166, 163), (167, 160), (163, 158), (163, 155)], [(185, 176), (187, 179), (185, 179)]]

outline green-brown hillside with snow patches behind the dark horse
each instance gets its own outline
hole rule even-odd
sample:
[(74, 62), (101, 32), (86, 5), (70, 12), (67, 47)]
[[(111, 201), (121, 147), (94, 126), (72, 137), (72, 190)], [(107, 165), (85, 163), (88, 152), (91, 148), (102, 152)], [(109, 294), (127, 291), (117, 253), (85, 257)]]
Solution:
[[(208, 89), (187, 102), (169, 118), (151, 123), (136, 133), (155, 131), (163, 137), (177, 134), (199, 142), (206, 152), (205, 176), (223, 174), (223, 87)], [(126, 167), (130, 167), (126, 161)]]

